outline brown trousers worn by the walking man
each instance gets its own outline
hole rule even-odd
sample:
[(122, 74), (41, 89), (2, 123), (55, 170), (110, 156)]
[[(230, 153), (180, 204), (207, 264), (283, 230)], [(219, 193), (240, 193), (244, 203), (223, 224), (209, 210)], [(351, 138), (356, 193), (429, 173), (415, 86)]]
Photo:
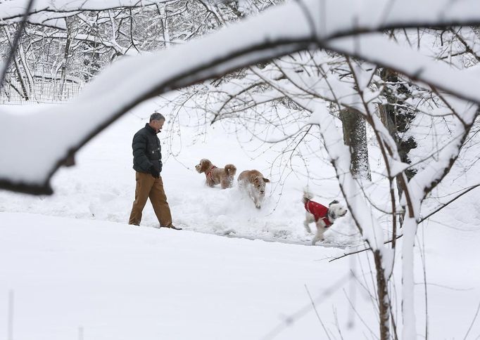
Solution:
[(150, 198), (153, 211), (160, 222), (160, 226), (167, 227), (172, 224), (172, 214), (168, 206), (167, 196), (163, 190), (162, 176), (154, 178), (151, 174), (135, 171), (135, 200), (128, 224), (140, 225), (141, 211), (144, 210), (146, 200)]

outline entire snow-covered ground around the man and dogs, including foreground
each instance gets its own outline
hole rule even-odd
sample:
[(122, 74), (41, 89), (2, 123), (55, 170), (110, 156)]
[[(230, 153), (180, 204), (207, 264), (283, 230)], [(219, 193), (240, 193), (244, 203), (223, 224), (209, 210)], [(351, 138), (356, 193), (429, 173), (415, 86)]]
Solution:
[[(311, 247), (302, 225), (307, 180), (279, 176), (270, 166), (274, 149), (252, 160), (255, 152), (245, 149), (255, 145), (242, 148), (222, 126), (202, 135), (166, 124), (162, 176), (184, 230), (151, 228), (158, 221), (149, 203), (142, 226), (127, 225), (132, 136), (155, 105), (137, 107), (91, 140), (76, 166), (53, 177), (51, 197), (0, 191), (0, 339), (11, 340), (7, 329), (12, 339), (374, 339), (367, 253), (328, 261), (358, 245), (358, 233), (347, 216)], [(236, 185), (207, 188), (194, 169), (201, 158), (263, 171), (272, 180), (263, 208)], [(328, 203), (339, 188), (326, 163), (317, 167), (331, 180), (310, 185)], [(417, 331), (424, 333), (424, 256), (430, 339), (480, 338), (480, 320), (469, 330), (480, 302), (478, 197), (462, 197), (419, 230)]]

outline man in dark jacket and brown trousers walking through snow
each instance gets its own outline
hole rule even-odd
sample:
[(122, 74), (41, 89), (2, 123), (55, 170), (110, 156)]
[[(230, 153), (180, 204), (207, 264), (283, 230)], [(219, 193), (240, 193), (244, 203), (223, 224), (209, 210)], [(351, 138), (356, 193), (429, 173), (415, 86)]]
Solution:
[(154, 112), (150, 116), (150, 122), (145, 124), (145, 127), (135, 133), (133, 137), (133, 169), (136, 171), (137, 188), (135, 188), (135, 200), (128, 223), (140, 225), (141, 211), (144, 210), (146, 200), (150, 198), (160, 228), (181, 230), (182, 228), (177, 228), (172, 224), (172, 215), (160, 176), (162, 148), (157, 133), (161, 131), (164, 123), (165, 117)]

